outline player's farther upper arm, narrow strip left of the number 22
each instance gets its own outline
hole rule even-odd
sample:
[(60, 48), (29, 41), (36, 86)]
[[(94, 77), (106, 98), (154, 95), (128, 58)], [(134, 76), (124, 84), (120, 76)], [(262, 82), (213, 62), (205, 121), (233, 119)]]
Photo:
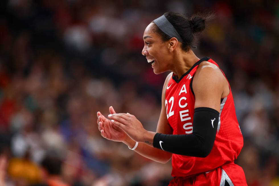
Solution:
[(172, 134), (173, 130), (168, 122), (167, 119), (167, 111), (166, 111), (166, 107), (165, 107), (165, 97), (166, 97), (166, 87), (169, 83), (169, 80), (171, 79), (172, 73), (169, 73), (169, 75), (167, 76), (164, 86), (163, 86), (163, 90), (162, 90), (162, 108), (161, 108), (161, 113), (160, 113), (160, 117), (159, 117), (159, 121), (157, 124), (157, 130), (156, 132), (158, 133), (162, 133), (162, 134)]

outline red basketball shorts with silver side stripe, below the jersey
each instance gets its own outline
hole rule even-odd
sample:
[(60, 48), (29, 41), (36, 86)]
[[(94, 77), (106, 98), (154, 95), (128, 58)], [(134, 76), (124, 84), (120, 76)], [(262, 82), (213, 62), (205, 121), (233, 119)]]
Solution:
[(203, 172), (192, 177), (175, 177), (170, 181), (169, 186), (219, 186), (221, 183), (222, 169), (227, 173), (233, 185), (247, 186), (243, 169), (233, 162), (218, 167), (208, 173)]

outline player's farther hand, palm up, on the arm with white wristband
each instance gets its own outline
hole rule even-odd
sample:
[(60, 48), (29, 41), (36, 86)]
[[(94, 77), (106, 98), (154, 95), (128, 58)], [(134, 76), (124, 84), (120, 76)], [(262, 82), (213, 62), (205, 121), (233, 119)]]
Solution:
[[(112, 107), (109, 107), (109, 111), (110, 114), (116, 113)], [(97, 118), (98, 129), (100, 130), (102, 137), (116, 142), (124, 142), (127, 138), (129, 138), (122, 129), (120, 129), (118, 126), (115, 126), (100, 112), (97, 112)]]

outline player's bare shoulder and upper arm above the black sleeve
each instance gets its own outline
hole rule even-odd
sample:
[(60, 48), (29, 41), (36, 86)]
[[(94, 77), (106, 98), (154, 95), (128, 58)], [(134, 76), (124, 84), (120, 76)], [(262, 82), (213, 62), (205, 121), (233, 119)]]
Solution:
[(210, 62), (202, 62), (193, 79), (195, 108), (209, 107), (220, 112), (220, 100), (226, 80), (219, 68)]

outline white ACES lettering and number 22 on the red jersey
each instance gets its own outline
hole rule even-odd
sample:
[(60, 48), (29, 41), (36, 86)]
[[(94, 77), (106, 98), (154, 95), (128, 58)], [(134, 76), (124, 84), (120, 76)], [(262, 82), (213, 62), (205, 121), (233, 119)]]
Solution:
[[(185, 124), (183, 124), (183, 129), (185, 130), (185, 134), (191, 134), (193, 132), (193, 125), (192, 122), (187, 122), (191, 120), (191, 117), (189, 116), (189, 110), (187, 109), (187, 105), (188, 103), (186, 102), (186, 95), (187, 94), (187, 90), (186, 90), (186, 85), (182, 85), (180, 92), (179, 92), (179, 101), (178, 101), (178, 105), (180, 108), (179, 111), (179, 116), (180, 116), (180, 121), (181, 122), (186, 122)], [(166, 106), (166, 110), (167, 110), (167, 118), (169, 119), (169, 117), (175, 115), (174, 110), (173, 110), (173, 104), (174, 102), (176, 102), (174, 100), (174, 97), (172, 96), (169, 100), (165, 100), (165, 106)], [(177, 103), (177, 102), (176, 102)], [(170, 107), (170, 108), (169, 108)]]

